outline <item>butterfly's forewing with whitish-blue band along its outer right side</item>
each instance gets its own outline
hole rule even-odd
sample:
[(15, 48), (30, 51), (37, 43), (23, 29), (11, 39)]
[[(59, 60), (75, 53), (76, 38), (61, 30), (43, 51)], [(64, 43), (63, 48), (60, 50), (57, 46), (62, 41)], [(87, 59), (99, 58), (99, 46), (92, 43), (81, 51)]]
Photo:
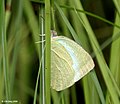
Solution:
[(91, 56), (73, 40), (63, 36), (56, 36), (53, 40), (61, 44), (71, 56), (73, 62), (72, 68), (75, 72), (74, 82), (81, 79), (94, 68)]

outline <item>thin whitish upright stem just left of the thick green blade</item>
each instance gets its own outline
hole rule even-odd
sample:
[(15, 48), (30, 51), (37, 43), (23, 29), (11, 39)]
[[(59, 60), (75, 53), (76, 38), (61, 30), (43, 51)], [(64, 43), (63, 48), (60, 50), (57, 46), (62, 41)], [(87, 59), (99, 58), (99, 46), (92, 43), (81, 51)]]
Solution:
[[(40, 34), (42, 34), (42, 36), (40, 36), (40, 40), (42, 41), (40, 43), (40, 55), (39, 55), (39, 59), (42, 59), (42, 63), (40, 63), (41, 66), (41, 76), (40, 76), (40, 101), (39, 104), (44, 104), (45, 103), (45, 52), (44, 52), (44, 47), (45, 47), (45, 39), (44, 39), (44, 30), (45, 30), (45, 20), (44, 18), (44, 5), (41, 4), (39, 7), (39, 28), (40, 28)], [(43, 18), (41, 18), (41, 16)]]

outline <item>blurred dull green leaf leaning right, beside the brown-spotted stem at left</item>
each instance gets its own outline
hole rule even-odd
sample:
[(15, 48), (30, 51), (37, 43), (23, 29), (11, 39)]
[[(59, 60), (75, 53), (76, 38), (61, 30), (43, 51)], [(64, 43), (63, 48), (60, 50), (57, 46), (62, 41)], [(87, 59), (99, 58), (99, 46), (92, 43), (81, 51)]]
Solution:
[[(15, 36), (15, 46), (13, 47), (14, 50), (13, 50), (13, 58), (12, 58), (12, 63), (11, 63), (11, 67), (10, 67), (10, 70), (11, 70), (11, 74), (10, 74), (10, 91), (11, 93), (13, 93), (13, 89), (14, 89), (14, 79), (15, 79), (15, 72), (16, 72), (16, 64), (17, 64), (17, 58), (18, 58), (18, 54), (19, 54), (19, 42), (21, 40), (21, 35), (20, 34), (20, 26), (21, 26), (21, 21), (22, 20), (22, 2), (18, 2), (18, 4), (16, 4), (17, 6), (17, 9), (16, 12), (16, 19), (14, 19), (14, 29), (12, 31), (12, 35)], [(19, 31), (18, 31), (19, 30)]]

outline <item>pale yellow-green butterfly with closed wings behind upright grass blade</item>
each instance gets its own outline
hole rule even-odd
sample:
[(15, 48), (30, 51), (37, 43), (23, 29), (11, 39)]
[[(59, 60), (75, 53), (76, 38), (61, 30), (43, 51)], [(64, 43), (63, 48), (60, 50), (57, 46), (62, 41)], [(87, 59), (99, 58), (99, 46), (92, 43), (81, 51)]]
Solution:
[(61, 91), (94, 68), (91, 56), (76, 42), (64, 37), (51, 39), (51, 87)]

